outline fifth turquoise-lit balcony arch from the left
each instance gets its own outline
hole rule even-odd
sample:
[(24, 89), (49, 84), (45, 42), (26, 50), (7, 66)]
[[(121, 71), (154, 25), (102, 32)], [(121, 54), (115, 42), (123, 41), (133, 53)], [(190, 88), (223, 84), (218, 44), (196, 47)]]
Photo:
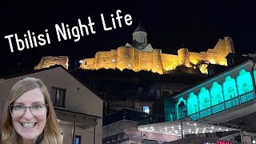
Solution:
[(238, 96), (238, 90), (234, 78), (226, 76), (225, 82), (223, 82), (222, 87), (225, 101)]

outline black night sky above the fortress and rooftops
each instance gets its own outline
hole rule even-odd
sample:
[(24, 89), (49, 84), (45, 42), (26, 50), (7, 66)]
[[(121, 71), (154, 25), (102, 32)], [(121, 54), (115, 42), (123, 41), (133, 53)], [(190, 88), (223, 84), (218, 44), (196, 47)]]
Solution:
[[(127, 26), (122, 18), (122, 27), (103, 30), (101, 14), (104, 14), (107, 26), (111, 24), (110, 14), (122, 10), (122, 17), (130, 14), (132, 25)], [(132, 33), (138, 23), (146, 30), (148, 42), (153, 48), (162, 49), (169, 54), (180, 47), (200, 52), (213, 48), (219, 38), (230, 36), (234, 40), (237, 54), (256, 51), (254, 46), (256, 18), (253, 1), (3, 1), (0, 4), (0, 60), (1, 70), (33, 69), (42, 56), (67, 55), (70, 66), (82, 58), (94, 58), (100, 50), (117, 49), (132, 42)], [(90, 17), (96, 34), (85, 35), (78, 42), (74, 39), (58, 42), (55, 24), (62, 22), (70, 27), (78, 26), (78, 18), (87, 24)], [(37, 34), (46, 34), (49, 30), (50, 44), (22, 51), (17, 50), (12, 38), (14, 53), (4, 37), (18, 34), (23, 38), (27, 30)], [(1, 75), (0, 75), (1, 77)]]

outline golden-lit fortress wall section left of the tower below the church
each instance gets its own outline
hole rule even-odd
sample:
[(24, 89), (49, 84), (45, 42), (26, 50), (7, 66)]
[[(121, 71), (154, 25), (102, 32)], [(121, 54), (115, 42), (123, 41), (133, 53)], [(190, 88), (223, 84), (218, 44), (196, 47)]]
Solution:
[(96, 58), (96, 67), (97, 69), (104, 67), (105, 69), (113, 68), (115, 62), (112, 62), (113, 59), (117, 59), (116, 51), (99, 51), (95, 54)]

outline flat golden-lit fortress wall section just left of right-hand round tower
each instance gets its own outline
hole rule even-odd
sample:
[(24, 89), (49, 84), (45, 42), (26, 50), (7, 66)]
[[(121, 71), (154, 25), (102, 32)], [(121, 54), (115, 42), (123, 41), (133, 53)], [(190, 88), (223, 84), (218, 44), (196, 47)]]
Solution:
[(179, 65), (178, 55), (162, 54), (162, 69), (173, 70)]

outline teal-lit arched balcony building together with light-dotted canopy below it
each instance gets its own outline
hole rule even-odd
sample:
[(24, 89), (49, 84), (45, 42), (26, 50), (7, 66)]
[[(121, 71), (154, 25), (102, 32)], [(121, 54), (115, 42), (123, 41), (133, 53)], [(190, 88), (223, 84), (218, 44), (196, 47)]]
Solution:
[[(178, 94), (163, 97), (158, 100), (161, 104), (154, 106), (162, 106), (164, 118), (142, 121), (138, 130), (183, 138), (187, 134), (239, 131), (242, 129), (238, 122), (243, 122), (256, 131), (252, 122), (256, 118), (255, 64), (247, 60)], [(242, 120), (245, 117), (249, 120)], [(240, 128), (219, 125), (220, 122), (233, 122)]]

